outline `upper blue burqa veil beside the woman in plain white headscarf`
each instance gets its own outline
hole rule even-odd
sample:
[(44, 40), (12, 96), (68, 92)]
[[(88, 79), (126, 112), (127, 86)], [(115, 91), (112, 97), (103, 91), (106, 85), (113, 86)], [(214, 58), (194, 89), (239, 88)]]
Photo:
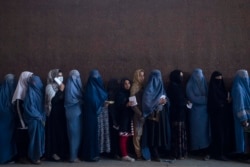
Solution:
[(40, 77), (33, 75), (28, 81), (28, 90), (24, 99), (24, 118), (26, 120), (45, 119), (44, 90)]

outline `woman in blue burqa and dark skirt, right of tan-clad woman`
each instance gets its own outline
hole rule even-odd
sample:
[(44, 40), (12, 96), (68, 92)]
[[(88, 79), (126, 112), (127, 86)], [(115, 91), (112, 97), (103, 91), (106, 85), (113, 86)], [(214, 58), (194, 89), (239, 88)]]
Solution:
[(152, 160), (155, 161), (160, 161), (159, 148), (165, 150), (170, 148), (168, 106), (168, 97), (164, 89), (161, 72), (153, 70), (142, 96), (143, 117), (146, 119), (142, 134), (142, 152), (146, 141)]

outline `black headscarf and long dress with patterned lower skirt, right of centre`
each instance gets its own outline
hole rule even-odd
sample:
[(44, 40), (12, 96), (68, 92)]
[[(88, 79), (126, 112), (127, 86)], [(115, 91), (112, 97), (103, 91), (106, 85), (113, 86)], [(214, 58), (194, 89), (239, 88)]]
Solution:
[(186, 132), (186, 98), (182, 85), (181, 71), (174, 70), (170, 74), (170, 84), (167, 88), (170, 100), (171, 119), (171, 148), (172, 154), (178, 159), (187, 156), (187, 132)]

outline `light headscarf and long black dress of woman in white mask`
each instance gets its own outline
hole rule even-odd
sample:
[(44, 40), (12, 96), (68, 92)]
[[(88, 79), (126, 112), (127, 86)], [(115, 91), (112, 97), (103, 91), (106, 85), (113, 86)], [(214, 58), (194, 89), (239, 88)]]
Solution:
[(53, 155), (56, 154), (61, 160), (65, 160), (69, 156), (69, 143), (64, 108), (64, 91), (59, 90), (57, 83), (54, 82), (58, 72), (58, 69), (49, 72), (48, 85), (46, 86), (46, 157), (52, 159)]

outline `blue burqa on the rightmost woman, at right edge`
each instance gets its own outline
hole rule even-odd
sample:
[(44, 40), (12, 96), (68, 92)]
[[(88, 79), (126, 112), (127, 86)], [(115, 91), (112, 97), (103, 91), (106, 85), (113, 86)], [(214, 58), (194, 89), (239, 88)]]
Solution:
[(233, 115), (235, 128), (236, 153), (245, 152), (244, 129), (241, 123), (250, 119), (249, 75), (239, 70), (232, 86)]

